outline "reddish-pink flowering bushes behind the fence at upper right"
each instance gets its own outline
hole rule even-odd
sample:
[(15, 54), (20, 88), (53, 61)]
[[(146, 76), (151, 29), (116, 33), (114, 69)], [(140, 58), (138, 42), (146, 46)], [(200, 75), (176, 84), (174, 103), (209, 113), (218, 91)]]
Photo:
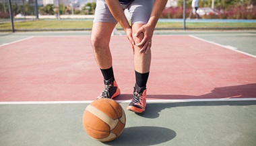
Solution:
[[(187, 14), (191, 11), (192, 0), (186, 1)], [(256, 19), (256, 0), (214, 0), (214, 8), (218, 9), (218, 15), (201, 16), (203, 19)], [(183, 0), (178, 1), (178, 7), (183, 7)], [(212, 7), (212, 0), (198, 0), (198, 7)], [(161, 15), (162, 18), (183, 18), (183, 11), (171, 7), (165, 9)]]

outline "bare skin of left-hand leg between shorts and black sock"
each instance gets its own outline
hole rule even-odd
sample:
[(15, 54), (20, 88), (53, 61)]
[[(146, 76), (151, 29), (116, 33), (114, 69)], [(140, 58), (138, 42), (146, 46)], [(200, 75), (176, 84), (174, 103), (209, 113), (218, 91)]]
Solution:
[(94, 57), (100, 69), (112, 67), (112, 56), (109, 48), (111, 33), (115, 23), (96, 22), (92, 26), (91, 42)]

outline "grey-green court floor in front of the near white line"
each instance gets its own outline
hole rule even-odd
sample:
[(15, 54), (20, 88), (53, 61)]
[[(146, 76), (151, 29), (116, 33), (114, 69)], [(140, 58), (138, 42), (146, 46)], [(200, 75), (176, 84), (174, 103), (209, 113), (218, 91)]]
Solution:
[[(125, 111), (115, 141), (90, 139), (82, 126), (88, 104), (1, 105), (1, 145), (256, 145), (256, 102), (150, 103)], [(127, 103), (121, 106), (126, 108)]]

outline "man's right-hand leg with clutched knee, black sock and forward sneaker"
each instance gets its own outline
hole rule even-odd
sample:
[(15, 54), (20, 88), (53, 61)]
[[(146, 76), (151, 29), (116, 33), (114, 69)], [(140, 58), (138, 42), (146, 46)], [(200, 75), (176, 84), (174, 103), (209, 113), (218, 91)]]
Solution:
[[(133, 24), (133, 34), (135, 34), (137, 29), (139, 29), (141, 26), (143, 26), (143, 24)], [(139, 34), (139, 36), (133, 36), (135, 44), (141, 42), (142, 39), (142, 33)], [(127, 110), (143, 113), (146, 110), (146, 84), (150, 73), (151, 50), (148, 50), (147, 54), (145, 54), (145, 52), (139, 52), (139, 50), (139, 47), (134, 46), (134, 68), (136, 83), (133, 90), (133, 100), (127, 107)]]

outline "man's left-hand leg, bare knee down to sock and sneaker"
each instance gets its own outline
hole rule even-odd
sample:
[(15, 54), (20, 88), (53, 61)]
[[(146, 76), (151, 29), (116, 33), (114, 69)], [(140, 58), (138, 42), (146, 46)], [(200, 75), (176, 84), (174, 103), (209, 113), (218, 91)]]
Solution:
[(92, 26), (91, 42), (94, 57), (104, 77), (104, 91), (98, 98), (115, 98), (119, 96), (120, 89), (115, 81), (112, 56), (109, 48), (111, 33), (115, 23), (96, 22)]

